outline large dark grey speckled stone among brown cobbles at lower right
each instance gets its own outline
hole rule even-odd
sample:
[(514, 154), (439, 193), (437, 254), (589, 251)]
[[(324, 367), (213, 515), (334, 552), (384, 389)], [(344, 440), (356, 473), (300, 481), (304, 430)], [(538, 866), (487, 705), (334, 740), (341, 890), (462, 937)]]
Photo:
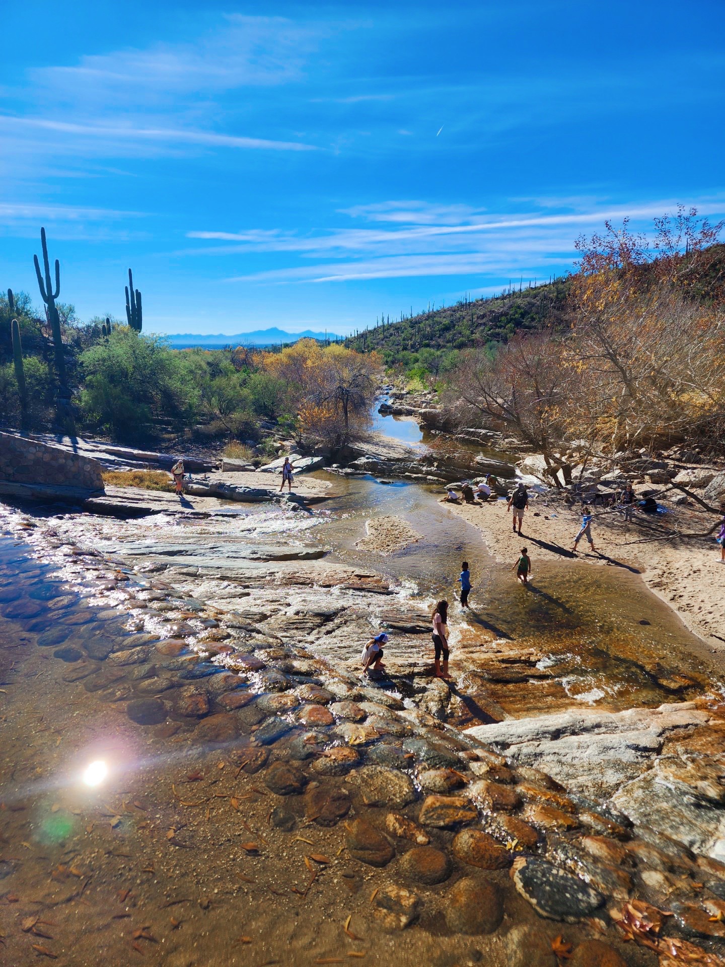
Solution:
[(517, 861), (513, 882), (542, 917), (576, 923), (589, 917), (604, 897), (583, 880), (546, 860)]

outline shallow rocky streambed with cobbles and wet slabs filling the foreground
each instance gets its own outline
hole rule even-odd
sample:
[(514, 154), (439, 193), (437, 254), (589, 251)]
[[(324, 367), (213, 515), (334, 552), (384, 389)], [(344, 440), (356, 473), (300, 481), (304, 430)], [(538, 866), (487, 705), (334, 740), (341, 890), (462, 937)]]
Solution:
[(432, 679), (431, 575), (485, 558), (424, 497), (423, 540), (354, 549), (356, 486), (310, 513), (4, 510), (9, 962), (720, 963), (725, 710), (686, 632), (641, 602), (627, 624), (626, 595), (594, 628), (580, 584), (523, 603), (491, 569)]

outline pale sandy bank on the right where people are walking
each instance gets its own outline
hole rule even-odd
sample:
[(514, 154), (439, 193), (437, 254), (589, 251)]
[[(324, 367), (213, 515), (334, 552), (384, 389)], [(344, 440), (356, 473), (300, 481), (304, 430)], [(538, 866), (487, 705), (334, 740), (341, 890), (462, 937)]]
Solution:
[[(520, 548), (527, 546), (534, 581), (538, 561), (573, 560), (571, 547), (581, 515), (563, 503), (546, 498), (530, 501), (524, 516), (523, 537), (514, 536), (505, 501), (483, 505), (448, 505), (480, 530), (490, 553), (512, 565)], [(714, 522), (707, 513), (681, 512), (685, 530), (704, 531)], [(624, 567), (638, 572), (645, 584), (669, 604), (684, 625), (697, 634), (710, 652), (725, 659), (725, 564), (713, 538), (679, 541), (644, 541), (649, 534), (647, 514), (641, 522), (625, 524), (620, 513), (597, 508), (592, 522), (595, 551), (586, 538), (579, 543), (576, 560), (589, 565)], [(548, 517), (548, 519), (547, 519)], [(511, 575), (511, 580), (514, 576)]]

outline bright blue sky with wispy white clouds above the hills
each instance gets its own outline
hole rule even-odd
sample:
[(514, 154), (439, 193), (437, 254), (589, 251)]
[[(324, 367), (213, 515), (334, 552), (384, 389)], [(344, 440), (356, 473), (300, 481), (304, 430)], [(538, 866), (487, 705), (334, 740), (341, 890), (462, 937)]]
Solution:
[(147, 331), (343, 333), (561, 274), (607, 217), (725, 213), (722, 0), (3, 22), (0, 289), (38, 297), (44, 224), (81, 318), (124, 316), (131, 266)]

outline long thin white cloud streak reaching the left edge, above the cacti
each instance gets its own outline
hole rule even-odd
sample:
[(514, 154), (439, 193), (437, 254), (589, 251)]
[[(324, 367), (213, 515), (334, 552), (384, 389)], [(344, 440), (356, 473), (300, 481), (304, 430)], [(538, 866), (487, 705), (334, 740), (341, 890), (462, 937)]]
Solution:
[(74, 124), (66, 121), (51, 121), (46, 118), (18, 118), (9, 114), (0, 115), (0, 127), (35, 128), (42, 131), (77, 134), (82, 137), (106, 138), (113, 140), (149, 140), (160, 142), (180, 142), (186, 144), (211, 145), (225, 148), (252, 148), (271, 151), (315, 151), (315, 145), (301, 141), (271, 141), (260, 137), (240, 137), (236, 134), (218, 134), (207, 131), (185, 131), (172, 128), (136, 128), (131, 125)]

